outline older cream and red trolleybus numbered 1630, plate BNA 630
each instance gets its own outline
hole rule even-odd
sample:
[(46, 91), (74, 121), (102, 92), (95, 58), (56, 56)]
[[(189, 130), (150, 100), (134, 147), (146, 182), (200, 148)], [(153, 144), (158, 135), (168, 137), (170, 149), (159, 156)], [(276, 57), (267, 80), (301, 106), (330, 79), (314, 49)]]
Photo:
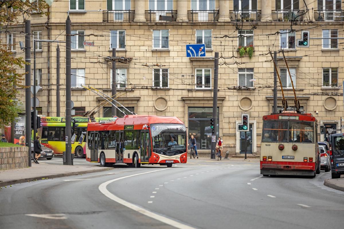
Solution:
[(260, 174), (315, 177), (319, 173), (317, 122), (312, 114), (284, 111), (264, 116)]

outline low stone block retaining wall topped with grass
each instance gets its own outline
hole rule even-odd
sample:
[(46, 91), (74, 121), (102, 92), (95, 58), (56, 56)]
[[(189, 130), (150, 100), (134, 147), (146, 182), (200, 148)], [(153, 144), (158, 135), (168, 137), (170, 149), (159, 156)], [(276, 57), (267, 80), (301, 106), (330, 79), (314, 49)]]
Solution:
[(0, 170), (28, 167), (28, 147), (0, 148)]

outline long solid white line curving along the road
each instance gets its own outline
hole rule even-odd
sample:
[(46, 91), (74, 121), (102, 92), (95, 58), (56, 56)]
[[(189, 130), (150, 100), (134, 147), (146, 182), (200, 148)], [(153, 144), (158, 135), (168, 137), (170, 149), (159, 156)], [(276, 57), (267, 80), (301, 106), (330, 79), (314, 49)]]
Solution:
[(128, 177), (132, 177), (132, 176), (137, 176), (137, 175), (141, 175), (141, 174), (147, 174), (147, 173), (152, 173), (152, 172), (157, 172), (157, 171), (162, 171), (162, 170), (166, 170), (168, 168), (163, 168), (161, 170), (154, 170), (154, 171), (150, 171), (150, 172), (145, 172), (145, 173), (138, 173), (138, 174), (133, 174), (133, 175), (129, 175), (129, 176), (123, 176), (123, 177), (119, 177), (119, 178), (116, 178), (116, 179), (112, 179), (110, 181), (107, 181), (107, 182), (104, 182), (103, 184), (100, 184), (98, 189), (101, 193), (103, 193), (106, 197), (108, 197), (109, 199), (112, 199), (114, 201), (116, 201), (117, 203), (121, 204), (121, 205), (124, 205), (134, 211), (137, 211), (137, 212), (140, 212), (141, 214), (145, 215), (145, 216), (148, 216), (152, 219), (155, 219), (155, 220), (158, 220), (160, 222), (163, 222), (167, 225), (170, 225), (172, 227), (175, 227), (175, 228), (179, 228), (179, 229), (195, 229), (194, 227), (191, 227), (189, 225), (186, 225), (184, 223), (181, 223), (179, 221), (176, 221), (176, 220), (173, 220), (173, 219), (170, 219), (170, 218), (167, 218), (165, 216), (161, 216), (159, 214), (156, 214), (154, 212), (151, 212), (147, 209), (144, 209), (142, 207), (139, 207), (135, 204), (131, 204), (117, 196), (115, 196), (114, 194), (110, 193), (107, 189), (106, 189), (106, 186), (112, 182), (115, 182), (115, 181), (118, 181), (120, 179), (125, 179), (125, 178), (128, 178)]

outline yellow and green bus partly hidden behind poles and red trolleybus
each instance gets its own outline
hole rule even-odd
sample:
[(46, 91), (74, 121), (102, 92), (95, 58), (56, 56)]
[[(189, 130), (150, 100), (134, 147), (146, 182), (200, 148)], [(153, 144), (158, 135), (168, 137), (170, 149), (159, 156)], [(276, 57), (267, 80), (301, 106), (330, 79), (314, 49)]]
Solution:
[[(90, 122), (88, 117), (72, 117), (75, 119), (77, 127), (72, 130), (72, 153), (78, 158), (84, 158), (86, 155), (86, 132), (87, 124)], [(99, 121), (115, 121), (114, 118), (95, 118)], [(71, 124), (72, 125), (72, 124)], [(65, 117), (42, 117), (41, 128), (37, 134), (41, 136), (42, 145), (54, 150), (58, 155), (66, 151), (66, 121)]]

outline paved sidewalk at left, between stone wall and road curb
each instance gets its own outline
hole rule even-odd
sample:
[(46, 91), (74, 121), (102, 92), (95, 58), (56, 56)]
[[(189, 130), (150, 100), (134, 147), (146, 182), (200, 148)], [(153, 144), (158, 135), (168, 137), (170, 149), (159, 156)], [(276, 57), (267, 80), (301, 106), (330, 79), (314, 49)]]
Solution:
[(52, 165), (40, 162), (32, 163), (32, 167), (20, 168), (14, 170), (0, 171), (0, 187), (31, 182), (42, 178), (56, 178), (63, 176), (72, 176), (85, 173), (101, 172), (111, 170), (113, 167), (99, 167), (95, 165), (78, 166), (78, 165)]

